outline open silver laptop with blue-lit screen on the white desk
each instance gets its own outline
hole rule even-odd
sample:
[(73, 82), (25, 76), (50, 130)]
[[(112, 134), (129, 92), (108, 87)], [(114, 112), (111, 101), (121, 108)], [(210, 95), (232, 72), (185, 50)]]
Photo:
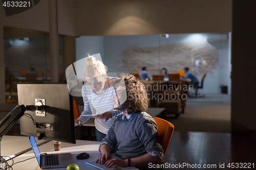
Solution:
[(63, 154), (46, 154), (41, 155), (35, 137), (30, 136), (29, 141), (32, 145), (32, 149), (35, 153), (35, 157), (40, 168), (56, 168), (56, 167), (67, 167), (69, 164), (74, 163), (71, 153)]

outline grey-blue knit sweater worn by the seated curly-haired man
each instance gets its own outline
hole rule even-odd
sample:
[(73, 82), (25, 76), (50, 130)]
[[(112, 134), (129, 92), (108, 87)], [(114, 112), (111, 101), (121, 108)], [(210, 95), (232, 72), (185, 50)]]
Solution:
[(108, 134), (102, 139), (102, 144), (109, 144), (121, 159), (135, 158), (145, 154), (163, 159), (163, 149), (157, 134), (157, 124), (146, 112), (133, 113), (129, 119), (118, 117)]

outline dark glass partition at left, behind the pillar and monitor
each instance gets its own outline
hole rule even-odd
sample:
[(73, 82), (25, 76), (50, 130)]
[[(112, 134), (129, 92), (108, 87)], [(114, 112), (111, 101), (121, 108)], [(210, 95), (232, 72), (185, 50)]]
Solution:
[[(58, 39), (59, 82), (63, 82), (63, 36)], [(4, 27), (5, 82), (8, 103), (17, 100), (18, 82), (50, 82), (49, 33)]]

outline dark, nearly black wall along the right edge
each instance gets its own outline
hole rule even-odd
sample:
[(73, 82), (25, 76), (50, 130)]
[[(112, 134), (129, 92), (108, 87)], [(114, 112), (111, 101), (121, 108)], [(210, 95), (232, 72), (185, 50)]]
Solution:
[(232, 10), (231, 131), (256, 131), (256, 1), (234, 0)]

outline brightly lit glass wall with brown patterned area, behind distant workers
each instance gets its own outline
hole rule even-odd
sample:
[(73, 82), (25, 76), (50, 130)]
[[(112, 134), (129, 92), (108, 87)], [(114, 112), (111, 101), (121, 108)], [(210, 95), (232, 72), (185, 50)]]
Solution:
[[(148, 74), (160, 74), (162, 68), (177, 73), (188, 67), (205, 93), (230, 90), (230, 33), (191, 33), (125, 36), (80, 36), (76, 38), (76, 60), (100, 53), (110, 72), (137, 73), (143, 66)], [(184, 74), (184, 73), (183, 73)], [(230, 93), (229, 93), (230, 94)]]

